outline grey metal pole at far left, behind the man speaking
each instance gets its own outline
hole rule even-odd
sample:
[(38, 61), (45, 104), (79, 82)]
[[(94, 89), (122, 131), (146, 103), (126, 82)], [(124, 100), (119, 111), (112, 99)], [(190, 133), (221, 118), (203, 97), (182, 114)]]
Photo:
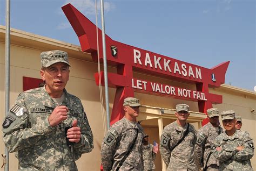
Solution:
[[(9, 111), (10, 99), (10, 0), (6, 0), (5, 10), (5, 116)], [(9, 171), (9, 152), (4, 148), (5, 153), (5, 171)]]

